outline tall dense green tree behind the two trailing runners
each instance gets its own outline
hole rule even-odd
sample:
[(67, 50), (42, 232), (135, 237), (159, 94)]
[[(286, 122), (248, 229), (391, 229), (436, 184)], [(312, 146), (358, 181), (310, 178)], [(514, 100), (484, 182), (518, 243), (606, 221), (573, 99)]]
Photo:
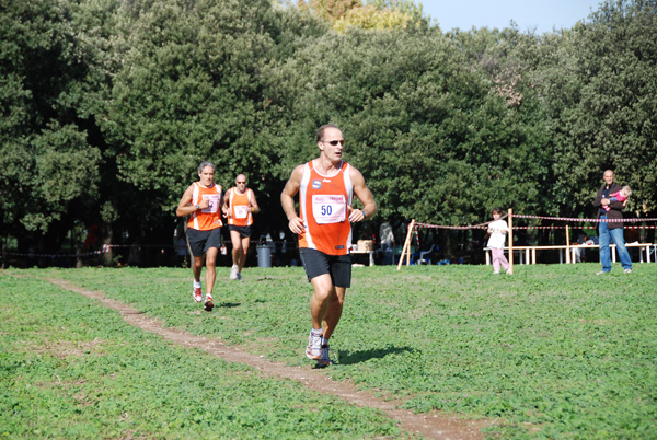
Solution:
[[(115, 201), (131, 236), (170, 240), (177, 200), (204, 160), (224, 187), (244, 173), (263, 209), (278, 207), (278, 194), (268, 197), (276, 121), (263, 117), (262, 72), (325, 27), (268, 0), (166, 0), (132, 2), (117, 28), (123, 68), (101, 127), (117, 178), (134, 194)], [(128, 206), (135, 197), (142, 202)]]

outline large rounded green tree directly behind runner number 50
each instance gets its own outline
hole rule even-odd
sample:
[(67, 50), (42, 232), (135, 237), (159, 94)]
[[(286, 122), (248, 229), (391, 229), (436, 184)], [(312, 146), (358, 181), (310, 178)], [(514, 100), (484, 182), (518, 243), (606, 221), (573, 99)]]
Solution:
[(324, 35), (267, 76), (272, 107), (295, 117), (283, 167), (316, 154), (314, 130), (333, 121), (382, 218), (453, 224), (482, 221), (493, 204), (535, 207), (531, 132), (463, 61), (438, 32)]

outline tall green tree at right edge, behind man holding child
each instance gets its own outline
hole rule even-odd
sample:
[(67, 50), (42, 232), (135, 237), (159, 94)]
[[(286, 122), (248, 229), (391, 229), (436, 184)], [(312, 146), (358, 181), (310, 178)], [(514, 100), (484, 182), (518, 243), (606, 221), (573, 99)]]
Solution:
[(655, 212), (657, 3), (602, 3), (553, 49), (540, 88), (554, 143), (554, 202), (592, 215), (611, 167), (633, 187), (632, 209)]

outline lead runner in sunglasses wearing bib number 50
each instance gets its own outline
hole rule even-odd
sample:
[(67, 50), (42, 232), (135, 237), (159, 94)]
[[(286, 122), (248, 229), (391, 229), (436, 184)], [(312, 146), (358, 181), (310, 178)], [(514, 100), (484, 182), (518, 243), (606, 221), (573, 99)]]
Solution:
[[(323, 125), (316, 134), (320, 157), (297, 166), (280, 194), (290, 231), (299, 235), (299, 254), (308, 280), (312, 329), (306, 356), (318, 367), (331, 364), (328, 338), (339, 322), (345, 293), (351, 285), (351, 223), (371, 218), (377, 204), (362, 174), (343, 161), (341, 129)], [(299, 213), (295, 196), (299, 193)], [(353, 196), (364, 205), (351, 208)]]

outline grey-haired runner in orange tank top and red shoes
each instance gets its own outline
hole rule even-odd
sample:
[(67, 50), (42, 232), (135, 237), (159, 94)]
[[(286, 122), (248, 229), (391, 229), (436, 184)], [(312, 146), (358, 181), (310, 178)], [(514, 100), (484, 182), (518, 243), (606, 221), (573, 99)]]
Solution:
[(194, 257), (192, 271), (194, 273), (193, 297), (196, 302), (201, 301), (200, 273), (205, 255), (206, 265), (206, 300), (205, 310), (212, 310), (212, 288), (217, 278), (217, 254), (221, 246), (221, 185), (215, 183), (215, 165), (211, 162), (201, 162), (198, 165), (198, 182), (194, 182), (183, 194), (175, 215), (189, 216), (187, 222), (187, 243)]

